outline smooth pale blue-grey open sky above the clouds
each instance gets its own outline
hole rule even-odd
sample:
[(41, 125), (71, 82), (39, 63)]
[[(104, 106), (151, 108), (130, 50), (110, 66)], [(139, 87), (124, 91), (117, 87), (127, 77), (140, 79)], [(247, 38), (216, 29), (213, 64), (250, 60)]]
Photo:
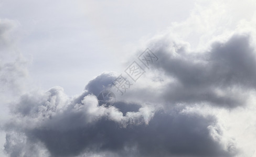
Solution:
[(19, 23), (17, 47), (30, 62), (33, 80), (44, 89), (59, 85), (74, 95), (103, 71), (122, 71), (140, 40), (185, 20), (194, 2), (184, 4), (2, 1), (0, 15)]

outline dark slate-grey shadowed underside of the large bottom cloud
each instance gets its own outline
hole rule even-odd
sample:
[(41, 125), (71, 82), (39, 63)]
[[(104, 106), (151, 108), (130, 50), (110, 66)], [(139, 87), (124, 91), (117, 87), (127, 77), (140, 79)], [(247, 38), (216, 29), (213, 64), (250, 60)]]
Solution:
[(231, 156), (209, 136), (207, 127), (214, 125), (214, 120), (159, 112), (148, 125), (123, 128), (115, 121), (102, 118), (95, 124), (68, 131), (33, 129), (26, 130), (26, 134), (45, 143), (53, 156), (74, 156), (84, 149), (129, 156), (132, 150), (125, 148), (133, 145), (136, 145), (136, 156)]

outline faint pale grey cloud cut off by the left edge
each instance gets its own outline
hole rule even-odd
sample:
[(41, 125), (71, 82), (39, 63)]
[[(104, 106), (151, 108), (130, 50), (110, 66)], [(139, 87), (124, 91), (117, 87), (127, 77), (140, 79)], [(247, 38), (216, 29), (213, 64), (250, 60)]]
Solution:
[(14, 48), (17, 26), (14, 20), (0, 19), (0, 93), (5, 96), (22, 93), (28, 75), (27, 61)]

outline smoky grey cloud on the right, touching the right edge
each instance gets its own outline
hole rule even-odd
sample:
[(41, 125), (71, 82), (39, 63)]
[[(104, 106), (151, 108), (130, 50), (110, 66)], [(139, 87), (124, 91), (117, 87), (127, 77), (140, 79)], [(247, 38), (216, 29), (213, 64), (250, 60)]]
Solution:
[(170, 103), (210, 103), (233, 108), (243, 105), (245, 92), (256, 87), (255, 50), (250, 37), (234, 35), (215, 42), (204, 53), (191, 53), (175, 42), (154, 43), (156, 65), (175, 79), (162, 93)]

